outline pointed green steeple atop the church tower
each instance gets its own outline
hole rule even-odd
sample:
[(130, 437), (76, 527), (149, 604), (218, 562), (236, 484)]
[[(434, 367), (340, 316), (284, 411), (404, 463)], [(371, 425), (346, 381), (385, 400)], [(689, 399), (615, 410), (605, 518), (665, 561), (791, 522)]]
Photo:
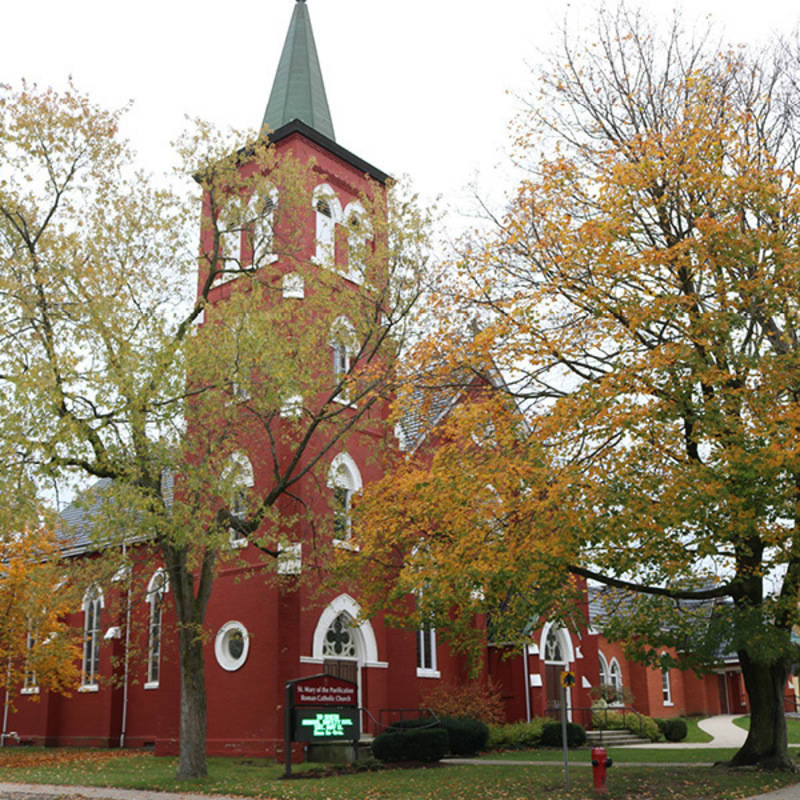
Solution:
[(294, 5), (261, 127), (274, 131), (293, 119), (336, 138), (305, 0)]

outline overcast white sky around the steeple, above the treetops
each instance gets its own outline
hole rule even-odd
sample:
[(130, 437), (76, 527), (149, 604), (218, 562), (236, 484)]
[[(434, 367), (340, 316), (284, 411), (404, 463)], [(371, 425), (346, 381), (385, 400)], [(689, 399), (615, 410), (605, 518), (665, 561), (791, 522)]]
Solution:
[[(106, 106), (134, 101), (125, 132), (145, 166), (170, 165), (184, 115), (256, 127), (295, 0), (2, 0), (0, 81), (77, 86)], [(681, 2), (644, 0), (654, 19)], [(789, 32), (785, 0), (693, 0), (732, 41)], [(532, 86), (528, 66), (565, 18), (591, 26), (574, 0), (308, 0), (337, 141), (426, 194), (466, 206), (476, 173), (499, 192), (507, 125)]]

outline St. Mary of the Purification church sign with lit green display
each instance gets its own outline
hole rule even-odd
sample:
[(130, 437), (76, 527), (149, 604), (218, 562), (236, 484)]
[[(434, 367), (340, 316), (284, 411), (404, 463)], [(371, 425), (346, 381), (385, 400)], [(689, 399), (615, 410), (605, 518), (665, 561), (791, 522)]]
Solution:
[(286, 777), (292, 774), (292, 742), (352, 741), (361, 736), (358, 686), (333, 675), (312, 675), (286, 683), (283, 711)]

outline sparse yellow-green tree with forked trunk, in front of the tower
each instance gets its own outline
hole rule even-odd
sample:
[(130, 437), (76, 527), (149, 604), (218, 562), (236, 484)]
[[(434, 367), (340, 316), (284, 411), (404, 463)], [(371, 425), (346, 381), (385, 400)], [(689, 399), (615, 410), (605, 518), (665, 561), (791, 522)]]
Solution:
[[(234, 150), (198, 123), (179, 143), (194, 190), (160, 187), (134, 171), (119, 112), (73, 88), (6, 89), (0, 103), (2, 440), (40, 480), (111, 479), (102, 544), (160, 552), (179, 621), (178, 775), (204, 775), (215, 568), (246, 542), (274, 564), (301, 518), (310, 544), (330, 542), (318, 487), (335, 446), (381, 440), (424, 220), (368, 184), (349, 258), (337, 240), (312, 264), (313, 161), (254, 135)], [(259, 463), (241, 457), (253, 441)]]

